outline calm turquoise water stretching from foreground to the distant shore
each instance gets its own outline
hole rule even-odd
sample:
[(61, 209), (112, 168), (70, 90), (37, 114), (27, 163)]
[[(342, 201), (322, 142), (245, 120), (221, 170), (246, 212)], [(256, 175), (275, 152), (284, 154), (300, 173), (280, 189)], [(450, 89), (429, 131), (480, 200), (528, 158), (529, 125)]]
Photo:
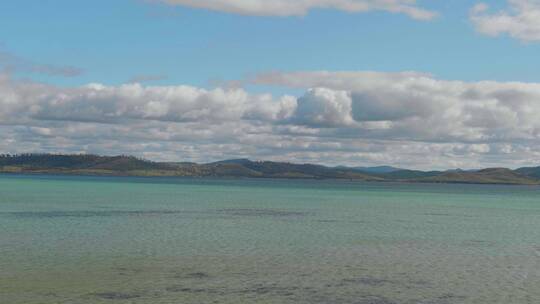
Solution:
[(540, 303), (540, 188), (0, 176), (0, 303)]

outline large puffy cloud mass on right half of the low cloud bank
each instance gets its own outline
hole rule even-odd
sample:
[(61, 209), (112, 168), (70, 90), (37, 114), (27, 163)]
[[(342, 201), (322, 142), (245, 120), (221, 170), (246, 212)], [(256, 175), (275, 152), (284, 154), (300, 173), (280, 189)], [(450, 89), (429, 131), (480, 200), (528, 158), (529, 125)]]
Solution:
[[(415, 72), (324, 71), (263, 74), (253, 82), (318, 88), (299, 98), (302, 111), (291, 119), (309, 126), (346, 127), (339, 130), (341, 136), (498, 142), (538, 140), (540, 134), (537, 83), (445, 81)], [(313, 92), (321, 90), (324, 94), (314, 98)], [(304, 113), (310, 113), (310, 119)]]

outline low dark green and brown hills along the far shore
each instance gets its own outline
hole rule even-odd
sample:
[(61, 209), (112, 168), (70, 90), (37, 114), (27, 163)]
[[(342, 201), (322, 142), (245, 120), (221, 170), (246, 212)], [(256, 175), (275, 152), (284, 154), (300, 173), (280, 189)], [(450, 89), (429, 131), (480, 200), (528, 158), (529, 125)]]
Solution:
[(0, 155), (0, 173), (105, 176), (303, 178), (423, 183), (540, 185), (540, 167), (511, 170), (418, 171), (395, 167), (327, 167), (249, 159), (207, 164), (153, 162), (133, 156), (19, 154)]

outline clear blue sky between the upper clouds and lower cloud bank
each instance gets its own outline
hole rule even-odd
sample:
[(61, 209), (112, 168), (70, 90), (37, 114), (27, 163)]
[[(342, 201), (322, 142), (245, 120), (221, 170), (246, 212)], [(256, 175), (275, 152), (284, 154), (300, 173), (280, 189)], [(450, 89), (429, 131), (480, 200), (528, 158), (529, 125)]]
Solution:
[[(35, 62), (84, 69), (55, 84), (212, 86), (268, 70), (423, 71), (442, 79), (540, 81), (540, 45), (478, 34), (476, 1), (424, 0), (430, 21), (387, 12), (313, 10), (257, 17), (138, 0), (3, 1), (0, 42)], [(504, 6), (504, 1), (493, 1)], [(166, 79), (165, 79), (166, 77)]]

